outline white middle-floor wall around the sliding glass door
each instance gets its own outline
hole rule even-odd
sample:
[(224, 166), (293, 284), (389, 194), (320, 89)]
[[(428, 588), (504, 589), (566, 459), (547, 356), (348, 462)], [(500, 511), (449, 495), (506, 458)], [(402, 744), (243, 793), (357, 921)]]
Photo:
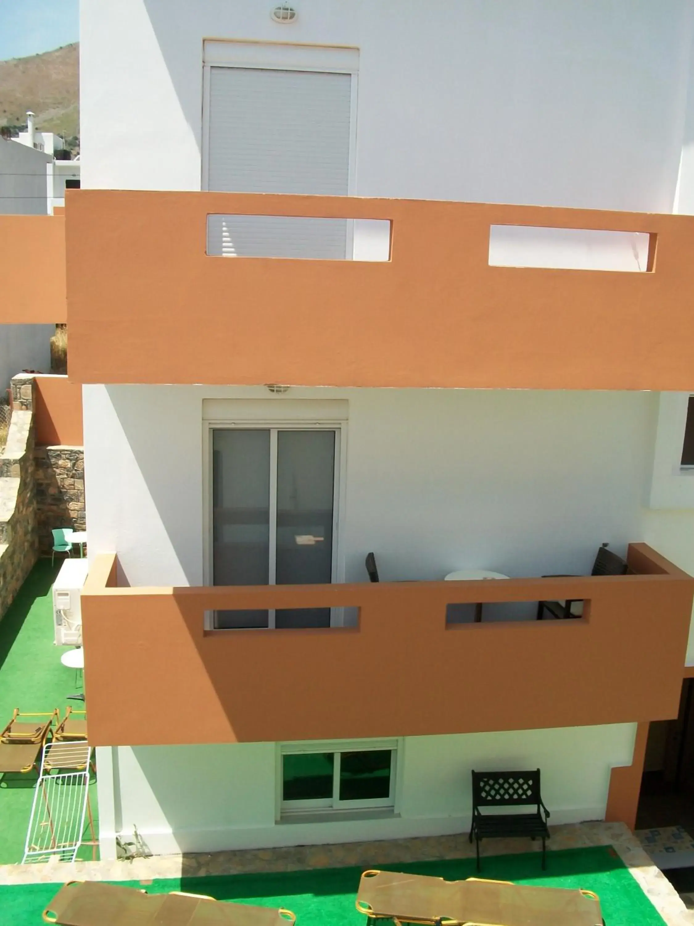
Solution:
[(657, 396), (618, 392), (83, 387), (90, 551), (132, 585), (203, 583), (203, 399), (349, 402), (345, 580), (589, 571), (643, 539)]

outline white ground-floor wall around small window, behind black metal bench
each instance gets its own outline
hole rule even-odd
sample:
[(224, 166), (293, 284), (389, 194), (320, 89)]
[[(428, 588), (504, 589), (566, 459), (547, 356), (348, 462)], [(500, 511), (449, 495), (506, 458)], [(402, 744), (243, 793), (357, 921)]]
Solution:
[[(156, 854), (466, 832), (470, 770), (542, 770), (551, 822), (604, 818), (610, 771), (631, 764), (636, 724), (412, 736), (402, 742), (391, 817), (276, 822), (277, 745), (102, 747), (102, 857), (133, 825)], [(366, 817), (366, 815), (365, 815)]]

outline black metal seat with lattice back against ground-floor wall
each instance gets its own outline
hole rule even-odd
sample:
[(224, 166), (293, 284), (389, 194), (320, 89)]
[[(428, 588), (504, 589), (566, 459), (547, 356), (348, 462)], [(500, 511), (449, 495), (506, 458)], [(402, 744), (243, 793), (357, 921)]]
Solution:
[[(528, 807), (532, 813), (482, 813), (480, 807)], [(546, 867), (545, 841), (550, 838), (547, 818), (550, 811), (542, 803), (539, 793), (539, 769), (535, 771), (473, 771), (472, 773), (472, 826), (470, 842), (477, 845), (477, 871), (479, 843), (488, 837), (529, 836), (542, 840), (542, 869)]]

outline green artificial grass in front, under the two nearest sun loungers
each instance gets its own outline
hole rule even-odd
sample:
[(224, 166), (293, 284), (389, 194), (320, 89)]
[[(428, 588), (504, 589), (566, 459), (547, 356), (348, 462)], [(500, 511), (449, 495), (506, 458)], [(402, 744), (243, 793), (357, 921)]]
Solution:
[[(124, 863), (125, 864), (125, 863)], [(448, 880), (476, 874), (474, 859), (419, 862), (383, 866), (389, 870), (436, 875)], [(218, 900), (238, 900), (263, 907), (288, 907), (297, 926), (365, 926), (354, 907), (361, 868), (286, 871), (228, 877), (180, 878), (168, 881), (118, 882), (144, 888), (150, 894), (187, 891)], [(480, 877), (546, 887), (583, 887), (601, 898), (606, 926), (663, 926), (651, 901), (638, 887), (612, 846), (566, 849), (548, 853), (541, 871), (539, 855), (496, 856), (483, 859)], [(0, 885), (0, 921), (7, 926), (34, 926), (56, 894), (56, 884)], [(559, 926), (559, 924), (557, 924)]]

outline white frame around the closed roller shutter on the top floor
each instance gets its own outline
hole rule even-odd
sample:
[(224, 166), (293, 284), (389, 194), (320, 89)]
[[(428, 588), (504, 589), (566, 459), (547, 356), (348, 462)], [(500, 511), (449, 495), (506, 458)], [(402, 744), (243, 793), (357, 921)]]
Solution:
[[(256, 68), (260, 70), (302, 70), (348, 74), (350, 94), (350, 150), (347, 195), (356, 194), (356, 113), (359, 50), (343, 46), (275, 44), (260, 42), (204, 42), (203, 56), (203, 144), (201, 190), (209, 189), (210, 69)], [(349, 254), (349, 247), (347, 253)]]

